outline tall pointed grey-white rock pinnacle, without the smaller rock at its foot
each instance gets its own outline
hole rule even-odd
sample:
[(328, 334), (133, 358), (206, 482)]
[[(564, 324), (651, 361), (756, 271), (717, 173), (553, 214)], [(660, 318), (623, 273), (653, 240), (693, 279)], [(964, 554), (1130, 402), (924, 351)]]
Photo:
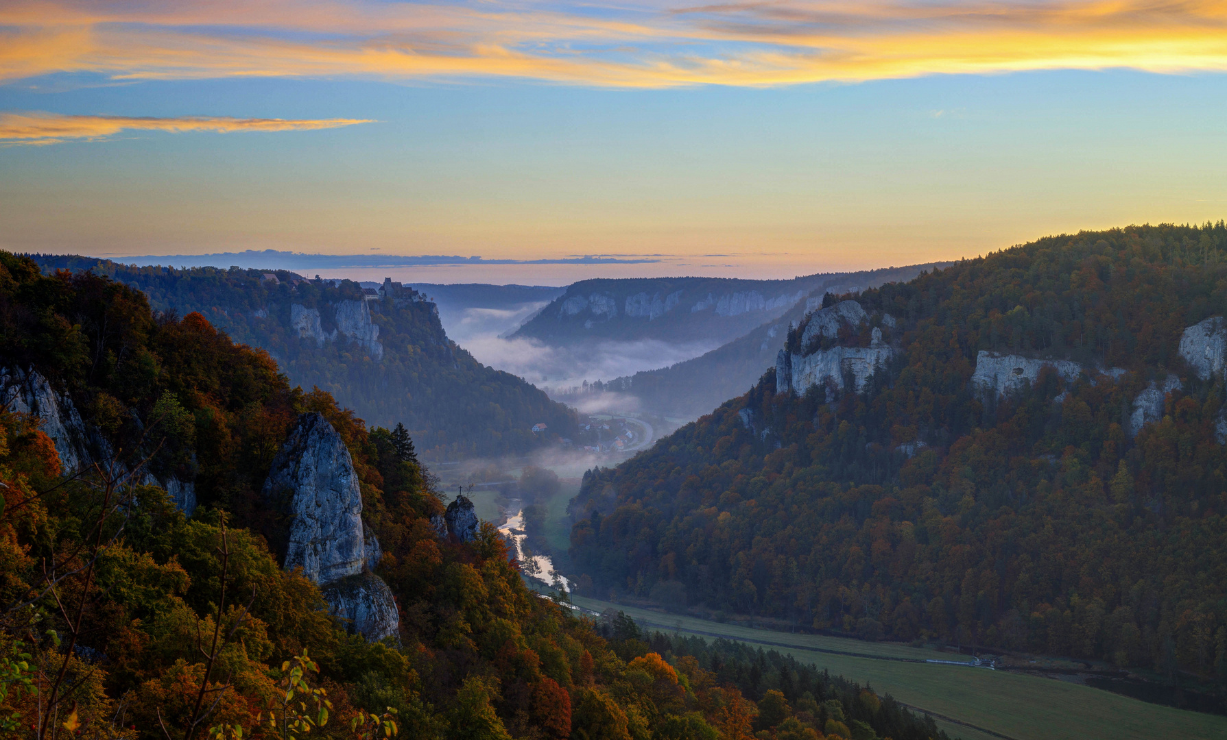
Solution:
[(366, 532), (362, 491), (341, 435), (320, 414), (303, 414), (272, 461), (264, 495), (288, 491), (290, 544), (286, 568), (329, 583), (362, 572)]

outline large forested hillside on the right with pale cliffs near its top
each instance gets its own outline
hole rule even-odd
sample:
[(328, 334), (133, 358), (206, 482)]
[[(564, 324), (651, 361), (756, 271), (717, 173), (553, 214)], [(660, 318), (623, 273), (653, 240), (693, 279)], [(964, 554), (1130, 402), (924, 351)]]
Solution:
[(1227, 680), (1225, 224), (1053, 236), (844, 298), (748, 393), (585, 477), (577, 572)]

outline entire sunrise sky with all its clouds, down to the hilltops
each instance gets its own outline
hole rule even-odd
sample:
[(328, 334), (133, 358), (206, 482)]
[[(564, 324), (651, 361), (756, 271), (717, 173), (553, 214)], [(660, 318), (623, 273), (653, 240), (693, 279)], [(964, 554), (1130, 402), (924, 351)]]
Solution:
[(958, 259), (1227, 217), (1225, 71), (1227, 1), (0, 0), (0, 249), (533, 284)]

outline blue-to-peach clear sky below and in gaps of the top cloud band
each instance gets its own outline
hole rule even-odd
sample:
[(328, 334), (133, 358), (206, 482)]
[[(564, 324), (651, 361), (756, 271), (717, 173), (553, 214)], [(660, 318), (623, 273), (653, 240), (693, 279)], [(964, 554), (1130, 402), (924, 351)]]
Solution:
[[(0, 36), (23, 32), (2, 21)], [(568, 33), (548, 40), (550, 59), (564, 40), (584, 56)], [(234, 28), (221, 36), (237, 43)], [(177, 43), (163, 45), (182, 51)], [(694, 47), (728, 60), (744, 45), (720, 39), (715, 54), (715, 43), (640, 43), (639, 56), (606, 47), (602, 59), (649, 64)], [(788, 277), (1227, 213), (1227, 77), (1216, 70), (1054, 62), (768, 85), (745, 83), (742, 70), (660, 86), (609, 85), (604, 70), (594, 82), (485, 69), (234, 75), (177, 62), (148, 78), (142, 60), (22, 64), (10, 62), (0, 86), (0, 140), (6, 126), (11, 135), (0, 148), (0, 247), (12, 250), (652, 254), (665, 257), (439, 267), (429, 279)], [(130, 78), (124, 65), (146, 76)]]

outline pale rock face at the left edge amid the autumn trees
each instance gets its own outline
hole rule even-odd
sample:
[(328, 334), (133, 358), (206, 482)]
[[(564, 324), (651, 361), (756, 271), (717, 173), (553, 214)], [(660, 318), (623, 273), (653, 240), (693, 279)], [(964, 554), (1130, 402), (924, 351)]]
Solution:
[(64, 473), (75, 473), (92, 461), (90, 434), (72, 401), (58, 393), (37, 370), (0, 369), (0, 403), (10, 412), (29, 414), (42, 420), (39, 429), (55, 442)]

